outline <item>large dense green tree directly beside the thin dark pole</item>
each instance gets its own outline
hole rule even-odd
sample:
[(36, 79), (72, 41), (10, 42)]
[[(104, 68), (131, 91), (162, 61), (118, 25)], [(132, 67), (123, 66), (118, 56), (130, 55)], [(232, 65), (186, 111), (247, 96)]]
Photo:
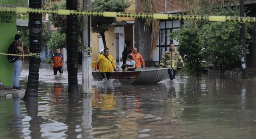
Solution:
[[(230, 6), (220, 9), (218, 15), (238, 16), (239, 10)], [(246, 24), (247, 30), (250, 24)], [(201, 26), (198, 32), (199, 45), (203, 50), (200, 52), (205, 58), (212, 56), (209, 60), (214, 67), (225, 70), (241, 59), (239, 22), (209, 22)], [(246, 32), (247, 43), (251, 39)], [(248, 45), (248, 44), (247, 44)], [(248, 50), (247, 50), (248, 51)]]

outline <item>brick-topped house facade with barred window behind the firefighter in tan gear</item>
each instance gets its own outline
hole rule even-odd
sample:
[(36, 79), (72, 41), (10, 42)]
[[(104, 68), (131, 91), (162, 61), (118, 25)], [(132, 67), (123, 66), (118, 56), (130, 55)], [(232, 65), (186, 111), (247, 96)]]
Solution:
[[(177, 0), (157, 0), (158, 8), (157, 13), (160, 14), (178, 14), (182, 12), (182, 7), (179, 5)], [(239, 5), (239, 1), (233, 4)], [(256, 17), (256, 0), (245, 0), (244, 1), (245, 10), (250, 11), (247, 16)], [(141, 0), (136, 0), (136, 13), (142, 12)], [(141, 19), (135, 19), (135, 47), (138, 48), (139, 52), (142, 54), (146, 66), (158, 66), (160, 58), (163, 53), (169, 49), (169, 44), (174, 43), (175, 46), (179, 45), (176, 40), (171, 40), (166, 34), (171, 33), (177, 29), (181, 29), (183, 21), (181, 20), (160, 20), (160, 31), (157, 42), (157, 49), (153, 54), (153, 58), (150, 58), (151, 50), (151, 31), (145, 32), (144, 26)], [(247, 55), (247, 66), (256, 67), (256, 23), (252, 23), (254, 29), (250, 32), (253, 42), (249, 44), (250, 54)], [(238, 67), (241, 63), (238, 63)]]

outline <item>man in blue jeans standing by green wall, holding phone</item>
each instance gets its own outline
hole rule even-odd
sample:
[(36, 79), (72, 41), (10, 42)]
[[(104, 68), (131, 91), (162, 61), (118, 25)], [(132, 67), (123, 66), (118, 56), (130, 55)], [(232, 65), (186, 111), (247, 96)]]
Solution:
[[(21, 55), (23, 52), (23, 43), (20, 40), (20, 35), (16, 34), (14, 36), (13, 46), (16, 48), (16, 52), (18, 55)], [(13, 70), (13, 90), (22, 91), (23, 89), (19, 86), (19, 76), (22, 68), (22, 56), (17, 56), (17, 60), (14, 62), (14, 70)]]

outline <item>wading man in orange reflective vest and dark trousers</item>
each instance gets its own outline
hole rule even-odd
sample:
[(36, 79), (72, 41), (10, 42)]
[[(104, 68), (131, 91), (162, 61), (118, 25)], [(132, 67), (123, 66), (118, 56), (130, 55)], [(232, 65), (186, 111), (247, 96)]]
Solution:
[(56, 75), (57, 71), (59, 71), (60, 74), (63, 73), (62, 70), (62, 63), (64, 62), (64, 57), (61, 53), (59, 53), (59, 49), (56, 49), (56, 53), (52, 55), (51, 63), (53, 66), (53, 74)]

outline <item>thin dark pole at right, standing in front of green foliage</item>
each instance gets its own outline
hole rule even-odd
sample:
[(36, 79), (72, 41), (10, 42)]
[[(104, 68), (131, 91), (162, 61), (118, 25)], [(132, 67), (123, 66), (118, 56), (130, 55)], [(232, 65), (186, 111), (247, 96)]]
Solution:
[[(240, 0), (239, 3), (240, 8), (240, 16), (244, 17), (244, 0)], [(242, 28), (240, 29), (240, 38), (241, 38), (241, 61), (242, 61), (242, 79), (247, 79), (247, 71), (246, 71), (246, 44), (245, 44), (245, 24), (242, 23)]]

